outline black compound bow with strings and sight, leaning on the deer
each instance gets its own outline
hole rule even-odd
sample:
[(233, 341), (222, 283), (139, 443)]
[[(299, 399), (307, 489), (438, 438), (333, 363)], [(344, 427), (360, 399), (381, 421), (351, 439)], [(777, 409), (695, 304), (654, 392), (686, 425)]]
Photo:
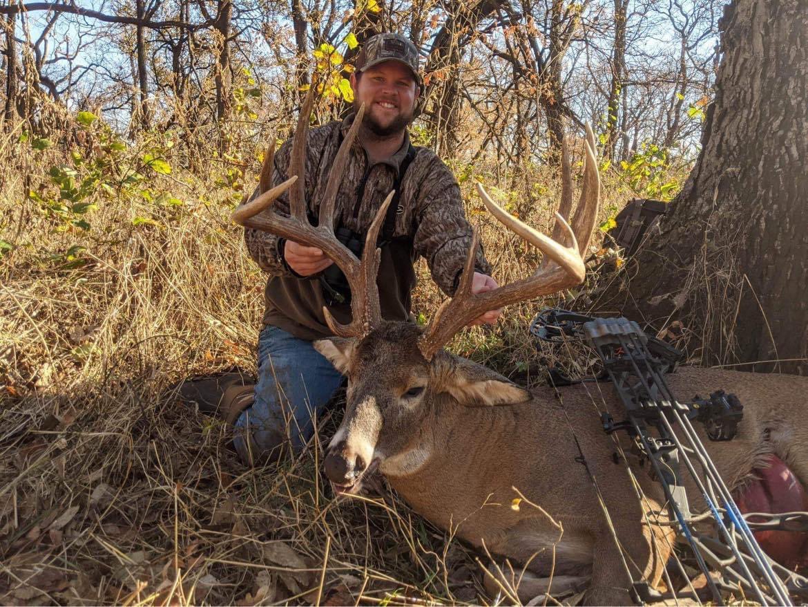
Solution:
[[(682, 353), (646, 335), (632, 320), (594, 318), (545, 308), (532, 321), (530, 333), (545, 342), (574, 338), (595, 349), (602, 371), (594, 380), (611, 381), (626, 413), (626, 419), (620, 422), (602, 414), (604, 431), (625, 431), (650, 461), (651, 472), (663, 487), (671, 520), (675, 521), (672, 524), (704, 572), (716, 604), (723, 604), (722, 589), (739, 587), (761, 605), (791, 605), (789, 592), (808, 597), (808, 579), (768, 558), (752, 534), (753, 528), (808, 531), (808, 513), (755, 513), (748, 516), (754, 516), (755, 521), (763, 518), (763, 522), (748, 522), (692, 426), (693, 420), (704, 424), (711, 440), (732, 439), (743, 420), (743, 403), (734, 394), (717, 390), (707, 398), (677, 401), (665, 373), (675, 371)], [(550, 380), (556, 386), (591, 381), (570, 380), (558, 369), (550, 370)], [(702, 515), (692, 516), (682, 483), (683, 468), (708, 506)], [(696, 529), (694, 524), (706, 519), (712, 519), (713, 528), (707, 533)], [(660, 595), (644, 582), (635, 583), (633, 588), (634, 598), (642, 602), (676, 597)], [(687, 596), (679, 594), (678, 598)]]

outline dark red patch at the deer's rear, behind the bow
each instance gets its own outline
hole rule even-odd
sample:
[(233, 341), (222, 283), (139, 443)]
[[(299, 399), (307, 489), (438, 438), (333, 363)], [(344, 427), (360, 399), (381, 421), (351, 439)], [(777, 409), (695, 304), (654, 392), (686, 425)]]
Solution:
[[(754, 473), (760, 480), (745, 486), (735, 499), (743, 513), (808, 511), (805, 487), (779, 457), (768, 456), (768, 466), (755, 469)], [(808, 533), (758, 531), (755, 539), (766, 554), (784, 567), (808, 567)]]

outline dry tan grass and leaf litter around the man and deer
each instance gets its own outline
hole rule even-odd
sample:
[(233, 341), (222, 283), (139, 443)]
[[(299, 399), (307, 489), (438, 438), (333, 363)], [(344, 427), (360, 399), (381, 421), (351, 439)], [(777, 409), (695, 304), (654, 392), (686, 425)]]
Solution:
[[(25, 190), (64, 152), (2, 148), (0, 237), (17, 248), (0, 258), (0, 602), (487, 601), (475, 555), (394, 496), (333, 501), (317, 440), (280, 468), (245, 469), (222, 423), (179, 405), (178, 380), (255, 372), (264, 278), (215, 175), (155, 176), (183, 206), (99, 199), (90, 231), (55, 232)], [(524, 187), (535, 181), (549, 187), (528, 221), (548, 229), (556, 180), (531, 174)], [(469, 201), (496, 277), (524, 274), (533, 253)], [(161, 225), (133, 226), (146, 211)], [(86, 265), (65, 270), (73, 244)], [(419, 271), (428, 317), (440, 295)], [(533, 379), (537, 309), (515, 306), (452, 347)], [(334, 424), (321, 420), (323, 442)]]

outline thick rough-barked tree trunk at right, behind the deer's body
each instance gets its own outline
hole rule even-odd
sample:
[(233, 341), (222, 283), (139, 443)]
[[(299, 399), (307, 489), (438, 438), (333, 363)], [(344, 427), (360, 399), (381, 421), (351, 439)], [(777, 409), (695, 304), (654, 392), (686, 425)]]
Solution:
[(701, 155), (661, 235), (627, 265), (630, 297), (610, 288), (605, 299), (658, 326), (679, 319), (702, 363), (805, 374), (806, 2), (734, 0), (721, 28)]

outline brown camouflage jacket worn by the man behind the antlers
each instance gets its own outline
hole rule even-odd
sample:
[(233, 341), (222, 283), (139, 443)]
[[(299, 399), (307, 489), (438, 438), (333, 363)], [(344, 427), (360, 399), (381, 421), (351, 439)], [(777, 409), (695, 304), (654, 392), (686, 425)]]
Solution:
[[(309, 212), (315, 217), (331, 164), (352, 121), (353, 115), (345, 121), (333, 121), (309, 130), (305, 197)], [(368, 166), (368, 156), (356, 139), (337, 195), (335, 218), (338, 226), (359, 232), (364, 238), (381, 203), (393, 189), (409, 146), (410, 138), (406, 134), (396, 154)], [(291, 151), (291, 141), (284, 142), (277, 151), (273, 184), (287, 178)], [(402, 212), (396, 216), (393, 240), (382, 247), (381, 253), (377, 282), (382, 316), (387, 320), (408, 318), (410, 294), (415, 287), (413, 264), (419, 256), (426, 259), (432, 278), (440, 289), (451, 295), (457, 288), (457, 279), (471, 244), (472, 231), (465, 218), (457, 180), (433, 151), (423, 147), (416, 147), (415, 151), (415, 158), (402, 180), (399, 201), (399, 211)], [(288, 215), (288, 195), (284, 193), (273, 207)], [(276, 325), (301, 339), (329, 336), (330, 329), (322, 314), (323, 305), (329, 302), (319, 275), (297, 278), (284, 263), (280, 254), (282, 240), (278, 237), (249, 228), (244, 237), (250, 256), (271, 274), (265, 291), (264, 324)], [(490, 274), (490, 266), (482, 253), (478, 254), (476, 269)], [(336, 320), (350, 320), (349, 305), (331, 304), (329, 309)]]

